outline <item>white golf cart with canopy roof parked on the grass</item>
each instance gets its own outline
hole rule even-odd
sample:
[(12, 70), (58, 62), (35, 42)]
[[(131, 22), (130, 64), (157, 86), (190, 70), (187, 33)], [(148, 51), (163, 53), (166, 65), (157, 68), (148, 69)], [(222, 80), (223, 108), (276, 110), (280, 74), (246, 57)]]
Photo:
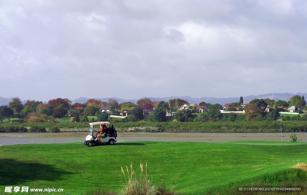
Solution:
[[(113, 125), (110, 125), (109, 122), (95, 122), (95, 123), (89, 123), (89, 124), (90, 124), (90, 131), (85, 138), (85, 141), (84, 141), (85, 145), (87, 145), (89, 147), (93, 146), (93, 144), (100, 145), (100, 144), (104, 144), (104, 143), (113, 145), (116, 142), (117, 132), (115, 130), (115, 127)], [(97, 126), (95, 126), (95, 125), (97, 125)], [(100, 141), (97, 138), (96, 139), (94, 138), (101, 130), (98, 125), (106, 125), (107, 126), (107, 129), (106, 129), (107, 134), (104, 138), (101, 138)], [(97, 133), (95, 133), (95, 132), (97, 132)]]

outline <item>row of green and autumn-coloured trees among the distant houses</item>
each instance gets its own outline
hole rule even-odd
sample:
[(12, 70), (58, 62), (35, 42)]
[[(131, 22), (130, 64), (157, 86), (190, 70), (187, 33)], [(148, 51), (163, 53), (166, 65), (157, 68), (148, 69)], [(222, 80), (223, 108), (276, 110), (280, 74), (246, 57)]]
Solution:
[[(225, 104), (228, 111), (235, 111), (235, 107), (240, 107), (243, 103), (243, 97), (240, 97), (239, 102), (232, 102)], [(70, 110), (70, 115), (73, 117), (74, 122), (88, 122), (87, 116), (97, 116), (99, 121), (107, 120), (108, 115), (106, 112), (100, 112), (99, 109), (104, 106), (111, 106), (110, 111), (112, 114), (117, 114), (117, 111), (132, 111), (132, 115), (129, 115), (123, 121), (137, 121), (144, 119), (142, 108), (146, 110), (155, 109), (153, 115), (150, 116), (150, 121), (163, 122), (166, 120), (174, 121), (216, 121), (216, 120), (229, 120), (233, 121), (233, 118), (238, 118), (236, 115), (226, 116), (220, 114), (220, 104), (210, 104), (205, 102), (200, 102), (200, 106), (209, 107), (208, 112), (200, 113), (197, 116), (192, 115), (196, 107), (189, 107), (183, 111), (178, 111), (172, 118), (166, 117), (167, 111), (179, 110), (183, 104), (188, 104), (186, 100), (183, 99), (170, 99), (167, 103), (164, 101), (151, 101), (150, 98), (139, 99), (137, 104), (132, 102), (124, 102), (119, 104), (115, 99), (109, 99), (108, 102), (104, 102), (96, 99), (88, 99), (86, 103), (74, 103), (65, 98), (51, 99), (48, 103), (42, 103), (35, 100), (28, 100), (24, 105), (22, 105), (19, 98), (13, 98), (9, 105), (0, 107), (0, 121), (10, 117), (16, 117), (19, 119), (24, 119), (24, 122), (55, 122), (56, 118), (64, 117), (68, 110)], [(284, 111), (278, 108), (279, 106), (290, 107), (290, 106), (300, 106), (306, 105), (304, 96), (293, 96), (287, 102), (278, 100), (274, 101), (272, 99), (253, 99), (250, 101), (248, 106), (244, 107), (245, 119), (248, 121), (263, 119), (267, 120), (277, 120), (282, 119), (279, 115), (279, 111)], [(273, 110), (267, 114), (263, 112), (263, 108), (267, 106), (273, 106)], [(81, 116), (84, 115), (84, 116)], [(224, 119), (223, 119), (224, 118)], [(241, 116), (239, 118), (242, 118)], [(241, 119), (240, 119), (241, 120)]]

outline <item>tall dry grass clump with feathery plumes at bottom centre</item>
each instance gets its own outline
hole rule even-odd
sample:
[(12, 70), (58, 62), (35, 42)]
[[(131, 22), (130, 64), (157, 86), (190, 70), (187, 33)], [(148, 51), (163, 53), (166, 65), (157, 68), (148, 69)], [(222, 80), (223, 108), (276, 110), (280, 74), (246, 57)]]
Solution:
[[(122, 168), (122, 167), (121, 167)], [(142, 162), (140, 163), (140, 176), (137, 177), (136, 173), (133, 170), (132, 162), (130, 165), (130, 173), (127, 169), (127, 175), (128, 180), (126, 179), (126, 174), (124, 170), (122, 169), (122, 173), (125, 176), (126, 185), (124, 186), (124, 189), (122, 190), (122, 194), (124, 195), (157, 195), (158, 194), (158, 187), (155, 186), (152, 181), (149, 179), (148, 176), (148, 167), (146, 163), (145, 167), (145, 174), (143, 170), (144, 166)]]

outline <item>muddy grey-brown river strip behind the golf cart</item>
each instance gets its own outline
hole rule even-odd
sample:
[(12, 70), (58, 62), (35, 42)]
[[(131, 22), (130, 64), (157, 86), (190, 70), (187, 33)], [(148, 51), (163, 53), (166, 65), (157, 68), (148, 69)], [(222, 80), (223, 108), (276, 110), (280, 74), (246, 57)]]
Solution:
[[(61, 133), (0, 133), (0, 145), (29, 143), (84, 142), (87, 132)], [(119, 132), (117, 142), (236, 142), (277, 141), (290, 142), (291, 133), (147, 133)], [(297, 138), (307, 142), (307, 132), (297, 132)]]

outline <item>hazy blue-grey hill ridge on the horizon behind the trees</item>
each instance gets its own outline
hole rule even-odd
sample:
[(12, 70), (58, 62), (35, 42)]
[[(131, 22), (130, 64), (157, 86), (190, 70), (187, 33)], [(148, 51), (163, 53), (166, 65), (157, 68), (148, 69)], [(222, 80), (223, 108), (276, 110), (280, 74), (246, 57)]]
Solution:
[[(273, 98), (275, 101), (278, 101), (279, 99), (288, 101), (292, 96), (294, 95), (299, 95), (299, 96), (307, 96), (306, 93), (273, 93)], [(169, 99), (172, 99), (173, 97), (149, 97), (151, 101), (165, 101), (168, 102)], [(216, 98), (216, 97), (201, 97), (201, 98), (192, 98), (191, 96), (181, 96), (181, 97), (176, 97), (180, 99), (185, 99), (189, 103), (196, 103), (199, 104), (200, 102), (206, 102), (206, 103), (219, 103), (221, 105), (224, 105), (225, 103), (231, 103), (231, 102), (239, 102), (240, 97), (231, 97), (231, 98)], [(267, 93), (267, 94), (261, 94), (258, 96), (245, 96), (243, 97), (244, 103), (249, 103), (252, 99), (266, 99), (266, 98), (272, 98), (272, 93)], [(12, 101), (13, 98), (4, 98), (0, 96), (0, 106), (8, 105), (10, 101)], [(86, 97), (80, 97), (77, 99), (72, 100), (72, 103), (85, 103), (87, 100), (90, 98)], [(94, 99), (99, 99), (101, 101), (107, 102), (110, 98), (94, 98)], [(132, 102), (136, 103), (139, 99), (121, 99), (117, 97), (112, 97), (112, 99), (116, 99), (118, 103), (123, 103), (123, 102)], [(23, 100), (22, 103), (25, 103), (27, 100)], [(45, 103), (45, 102), (44, 102)]]

